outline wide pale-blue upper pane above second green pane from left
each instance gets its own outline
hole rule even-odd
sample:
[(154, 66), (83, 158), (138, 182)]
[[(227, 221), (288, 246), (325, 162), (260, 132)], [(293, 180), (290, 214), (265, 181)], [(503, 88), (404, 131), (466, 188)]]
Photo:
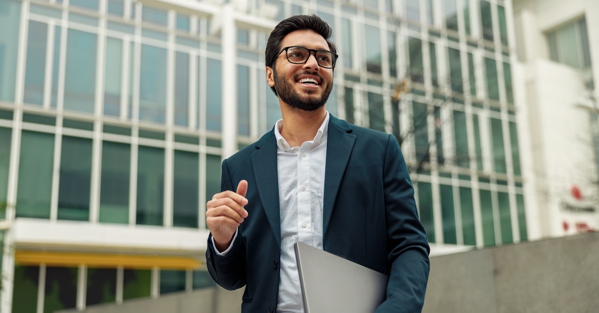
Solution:
[(69, 29), (66, 40), (65, 110), (93, 113), (96, 88), (96, 38)]

